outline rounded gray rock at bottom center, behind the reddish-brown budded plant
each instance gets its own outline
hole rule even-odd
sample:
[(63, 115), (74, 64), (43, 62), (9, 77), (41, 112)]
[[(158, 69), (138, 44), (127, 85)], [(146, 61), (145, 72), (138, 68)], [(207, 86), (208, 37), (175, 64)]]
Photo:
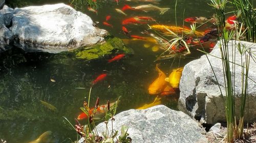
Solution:
[[(207, 142), (202, 134), (205, 130), (200, 128), (196, 121), (185, 113), (164, 105), (123, 111), (114, 118), (113, 128), (120, 133), (122, 125), (128, 126), (127, 133), (133, 142)], [(111, 121), (108, 127), (111, 131)], [(99, 133), (105, 132), (104, 123), (100, 123), (96, 128)]]

